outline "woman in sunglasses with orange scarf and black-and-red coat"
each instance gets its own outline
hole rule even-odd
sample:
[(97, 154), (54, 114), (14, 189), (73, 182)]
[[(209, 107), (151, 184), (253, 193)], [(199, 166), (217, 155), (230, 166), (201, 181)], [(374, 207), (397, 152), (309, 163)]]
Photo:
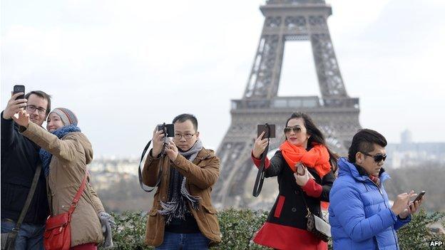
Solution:
[[(285, 142), (272, 159), (266, 157), (265, 177), (277, 176), (279, 194), (255, 243), (274, 249), (327, 249), (327, 243), (307, 231), (307, 209), (322, 217), (320, 202), (329, 202), (337, 155), (326, 145), (322, 132), (305, 113), (293, 113), (285, 127)], [(267, 139), (255, 140), (252, 160), (260, 165)], [(298, 172), (297, 172), (298, 170)]]

